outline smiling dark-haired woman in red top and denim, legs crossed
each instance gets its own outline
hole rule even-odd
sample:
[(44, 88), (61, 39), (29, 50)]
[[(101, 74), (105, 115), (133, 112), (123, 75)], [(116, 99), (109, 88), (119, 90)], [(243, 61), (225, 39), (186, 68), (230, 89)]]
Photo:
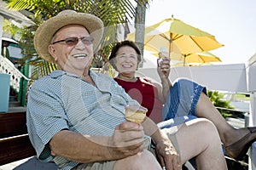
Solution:
[[(148, 108), (148, 116), (154, 122), (168, 120), (160, 123), (168, 126), (172, 118), (179, 116), (207, 118), (218, 128), (225, 154), (236, 160), (241, 160), (256, 140), (256, 127), (236, 129), (224, 120), (208, 99), (205, 87), (189, 80), (179, 80), (172, 86), (168, 78), (170, 59), (164, 58), (157, 67), (161, 85), (147, 78), (135, 77), (141, 53), (134, 42), (118, 42), (112, 49), (109, 61), (119, 73), (115, 81), (125, 88), (126, 93), (131, 94), (131, 98)], [(163, 104), (164, 107), (161, 106)]]

